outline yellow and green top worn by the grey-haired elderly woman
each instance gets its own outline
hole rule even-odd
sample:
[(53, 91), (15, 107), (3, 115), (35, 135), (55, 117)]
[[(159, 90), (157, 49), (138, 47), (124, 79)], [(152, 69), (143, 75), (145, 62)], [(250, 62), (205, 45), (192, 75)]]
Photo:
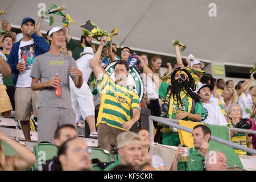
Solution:
[[(236, 125), (234, 125), (234, 123), (231, 121), (228, 123), (228, 127), (235, 127)], [(245, 133), (237, 133), (234, 134), (231, 138), (231, 142), (236, 143), (236, 144), (240, 144), (241, 146), (247, 147), (247, 140), (246, 140), (246, 135)], [(246, 155), (246, 151), (242, 151), (242, 150), (237, 150), (236, 148), (234, 148), (234, 152), (236, 152), (236, 154), (240, 154), (240, 155)]]

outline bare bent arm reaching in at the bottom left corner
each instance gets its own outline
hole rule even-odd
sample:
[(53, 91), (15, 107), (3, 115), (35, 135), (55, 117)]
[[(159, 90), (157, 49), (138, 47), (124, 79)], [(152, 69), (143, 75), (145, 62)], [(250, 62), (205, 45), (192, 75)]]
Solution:
[(3, 134), (2, 131), (0, 131), (0, 140), (9, 144), (9, 146), (18, 154), (9, 158), (10, 160), (13, 160), (14, 169), (26, 169), (36, 162), (36, 156), (30, 150), (28, 150), (27, 147), (13, 139), (10, 139)]

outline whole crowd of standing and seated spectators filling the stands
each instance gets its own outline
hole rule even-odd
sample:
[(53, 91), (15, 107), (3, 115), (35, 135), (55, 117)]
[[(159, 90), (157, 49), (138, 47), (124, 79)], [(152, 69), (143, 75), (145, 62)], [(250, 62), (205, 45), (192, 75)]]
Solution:
[[(90, 150), (84, 140), (77, 138), (80, 119), (89, 125), (89, 138), (98, 139), (98, 148), (110, 154), (117, 150), (121, 156), (121, 160), (110, 164), (106, 171), (125, 170), (125, 166), (129, 166), (129, 170), (167, 170), (160, 156), (148, 152), (153, 142), (148, 129), (140, 129), (137, 134), (130, 131), (133, 125), (138, 125), (143, 109), (157, 117), (218, 126), (237, 127), (246, 121), (251, 126), (249, 130), (256, 130), (256, 85), (249, 88), (255, 81), (254, 72), (249, 81), (239, 81), (237, 85), (233, 80), (213, 78), (203, 71), (203, 61), (192, 54), (182, 60), (180, 48), (173, 40), (170, 44), (175, 48), (176, 62), (167, 63), (167, 72), (161, 77), (160, 56), (148, 60), (144, 53), (135, 54), (138, 61), (133, 63), (134, 51), (129, 47), (121, 48), (118, 55), (117, 45), (111, 43), (104, 51), (106, 36), (101, 37), (97, 46), (92, 43), (92, 36), (83, 31), (77, 43), (66, 23), (48, 30), (44, 38), (40, 31), (42, 23), (42, 17), (37, 23), (30, 17), (24, 18), (20, 24), (21, 34), (16, 35), (4, 19), (0, 29), (0, 113), (4, 118), (11, 118), (11, 111), (15, 110), (15, 119), (20, 122), (27, 141), (31, 141), (29, 121), (34, 115), (38, 122), (38, 142), (54, 143), (59, 148), (58, 155), (38, 170), (90, 169)], [(113, 77), (105, 70), (110, 63), (115, 63)], [(145, 87), (142, 101), (137, 88), (131, 84), (130, 69), (142, 74)], [(96, 105), (99, 105), (97, 117)], [(177, 146), (170, 170), (227, 169), (223, 152), (208, 151), (211, 132), (207, 126), (197, 125), (193, 129), (195, 147), (190, 148), (189, 156), (193, 156), (195, 162), (181, 161), (184, 148), (175, 127), (154, 122), (154, 129), (160, 144)], [(230, 131), (231, 142), (253, 149), (255, 136)], [(18, 155), (6, 157), (1, 140)], [(217, 156), (217, 164), (209, 163), (211, 155)], [(24, 169), (36, 160), (26, 147), (1, 131), (0, 158), (1, 170)]]

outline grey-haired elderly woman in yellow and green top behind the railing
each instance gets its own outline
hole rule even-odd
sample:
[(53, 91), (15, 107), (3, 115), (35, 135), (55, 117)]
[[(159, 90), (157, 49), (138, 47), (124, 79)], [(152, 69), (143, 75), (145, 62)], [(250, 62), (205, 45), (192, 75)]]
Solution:
[[(230, 118), (228, 127), (236, 127), (237, 123), (242, 119), (242, 110), (238, 104), (231, 105), (228, 111), (228, 117)], [(247, 143), (251, 143), (251, 138), (248, 138), (247, 133), (230, 131), (230, 138), (231, 138), (231, 142), (240, 144), (241, 146), (244, 146), (244, 147), (247, 147)], [(253, 148), (251, 145), (248, 147)], [(246, 151), (237, 150), (236, 148), (234, 148), (234, 152), (240, 155), (247, 155)]]

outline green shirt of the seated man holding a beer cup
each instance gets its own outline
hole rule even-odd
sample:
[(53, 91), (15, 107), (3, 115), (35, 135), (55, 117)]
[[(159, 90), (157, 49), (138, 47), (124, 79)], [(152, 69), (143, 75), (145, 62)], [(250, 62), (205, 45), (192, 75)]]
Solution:
[(177, 164), (178, 171), (204, 171), (204, 156), (195, 147), (189, 150), (189, 159), (183, 162), (181, 158)]

